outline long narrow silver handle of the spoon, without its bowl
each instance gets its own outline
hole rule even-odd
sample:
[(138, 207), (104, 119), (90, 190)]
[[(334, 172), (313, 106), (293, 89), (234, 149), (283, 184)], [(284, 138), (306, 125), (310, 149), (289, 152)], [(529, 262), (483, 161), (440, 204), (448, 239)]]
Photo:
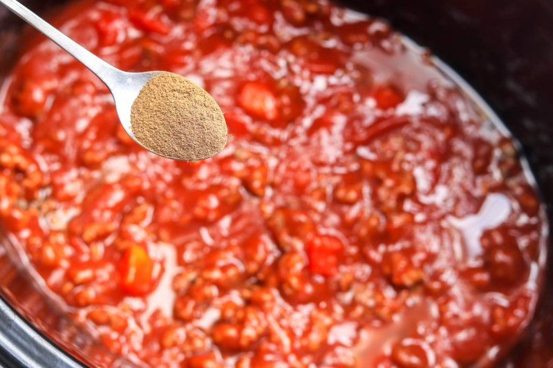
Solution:
[(86, 48), (80, 46), (77, 42), (73, 41), (62, 32), (59, 32), (59, 30), (53, 26), (50, 26), (48, 22), (44, 21), (44, 19), (39, 17), (37, 14), (21, 5), (19, 1), (0, 0), (0, 3), (17, 14), (31, 26), (37, 28), (37, 30), (43, 33), (46, 37), (57, 43), (59, 47), (73, 55), (73, 57), (84, 64), (86, 68), (90, 69), (91, 72), (100, 77), (104, 83), (120, 72), (120, 70), (107, 64), (105, 61), (94, 55), (92, 52), (86, 50)]

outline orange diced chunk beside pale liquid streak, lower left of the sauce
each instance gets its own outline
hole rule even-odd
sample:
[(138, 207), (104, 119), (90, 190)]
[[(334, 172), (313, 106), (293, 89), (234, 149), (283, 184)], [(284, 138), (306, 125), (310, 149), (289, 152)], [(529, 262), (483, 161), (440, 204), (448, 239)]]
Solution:
[(153, 263), (142, 246), (126, 249), (119, 261), (120, 289), (131, 296), (140, 296), (151, 289)]

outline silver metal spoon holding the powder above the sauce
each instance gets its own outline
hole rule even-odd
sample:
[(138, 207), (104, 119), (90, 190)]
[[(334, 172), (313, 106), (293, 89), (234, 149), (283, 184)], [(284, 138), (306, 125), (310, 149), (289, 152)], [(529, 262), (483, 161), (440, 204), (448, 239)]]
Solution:
[[(111, 95), (113, 95), (113, 99), (115, 99), (115, 108), (117, 108), (119, 119), (126, 133), (129, 134), (135, 142), (140, 144), (140, 146), (151, 151), (148, 147), (142, 145), (133, 134), (131, 129), (131, 106), (147, 81), (162, 72), (124, 72), (118, 68), (114, 68), (62, 32), (59, 32), (59, 30), (53, 26), (50, 26), (44, 19), (41, 19), (37, 14), (21, 5), (19, 1), (0, 0), (0, 3), (21, 17), (21, 19), (24, 19), (24, 21), (31, 26), (37, 28), (37, 30), (73, 55), (75, 59), (80, 61), (86, 68), (90, 69), (97, 77), (102, 79), (104, 84), (109, 88)], [(160, 153), (151, 152), (160, 155)]]

